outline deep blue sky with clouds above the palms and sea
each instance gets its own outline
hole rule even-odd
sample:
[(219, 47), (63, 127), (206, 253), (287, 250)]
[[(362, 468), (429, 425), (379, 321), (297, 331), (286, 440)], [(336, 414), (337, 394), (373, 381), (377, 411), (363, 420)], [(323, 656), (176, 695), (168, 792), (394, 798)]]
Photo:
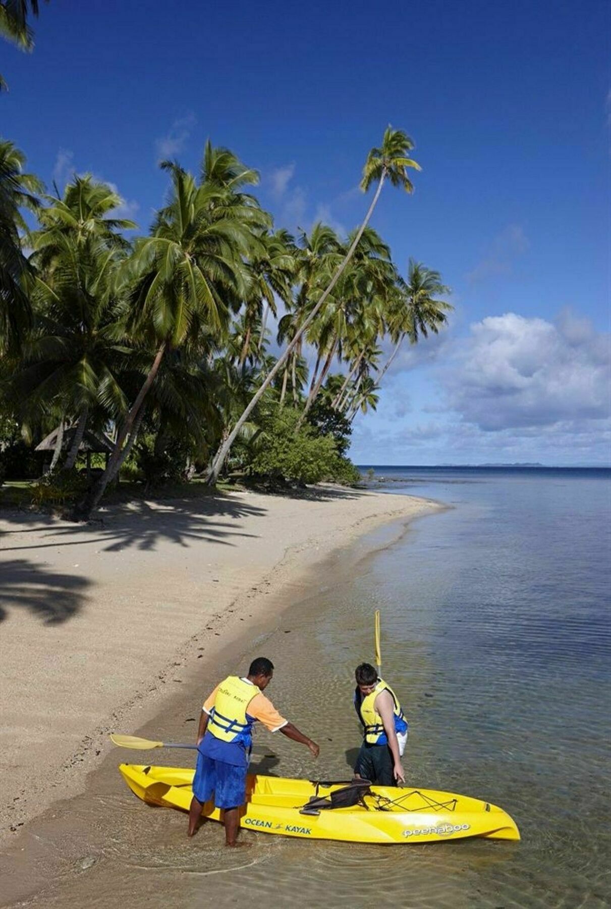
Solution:
[(0, 128), (48, 185), (91, 171), (147, 229), (160, 157), (206, 137), (261, 172), (278, 225), (360, 221), (384, 127), (422, 172), (373, 225), (438, 269), (456, 313), (406, 349), (359, 463), (608, 464), (611, 5), (51, 0), (2, 45)]

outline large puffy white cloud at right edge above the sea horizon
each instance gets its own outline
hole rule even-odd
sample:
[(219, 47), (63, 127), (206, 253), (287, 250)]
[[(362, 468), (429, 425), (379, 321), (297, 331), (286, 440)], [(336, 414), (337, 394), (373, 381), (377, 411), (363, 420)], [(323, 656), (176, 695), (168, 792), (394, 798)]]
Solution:
[(485, 432), (553, 425), (575, 432), (610, 415), (609, 337), (584, 319), (568, 312), (555, 324), (515, 313), (489, 316), (454, 344), (442, 373), (448, 403)]

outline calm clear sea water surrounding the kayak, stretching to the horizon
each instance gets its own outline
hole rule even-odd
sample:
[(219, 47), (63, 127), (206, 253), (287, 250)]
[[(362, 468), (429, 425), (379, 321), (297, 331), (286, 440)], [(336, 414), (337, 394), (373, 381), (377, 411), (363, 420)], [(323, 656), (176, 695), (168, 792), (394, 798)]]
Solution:
[[(92, 864), (74, 874), (87, 862), (66, 859), (61, 880), (35, 904), (611, 903), (608, 474), (429, 471), (409, 479), (409, 492), (456, 507), (412, 524), (358, 571), (342, 574), (338, 563), (256, 648), (276, 664), (269, 693), (281, 711), (319, 741), (318, 763), (265, 733), (258, 744), (274, 756), (253, 763), (283, 775), (350, 775), (359, 744), (351, 673), (372, 660), (379, 608), (383, 674), (410, 720), (409, 785), (501, 805), (522, 842), (380, 847), (244, 833), (251, 848), (232, 852), (222, 848), (219, 824), (188, 841), (184, 815), (138, 802), (110, 768), (93, 803), (74, 803), (72, 824), (88, 830)], [(155, 760), (172, 764), (162, 754)]]

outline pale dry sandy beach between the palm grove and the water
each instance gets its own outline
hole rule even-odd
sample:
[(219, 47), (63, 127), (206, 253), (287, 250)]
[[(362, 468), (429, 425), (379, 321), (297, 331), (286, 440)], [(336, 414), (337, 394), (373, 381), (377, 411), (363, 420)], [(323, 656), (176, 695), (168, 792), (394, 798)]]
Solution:
[(195, 667), (212, 678), (330, 551), (435, 507), (320, 486), (138, 502), (87, 525), (2, 514), (2, 838), (83, 791), (110, 731), (145, 724)]

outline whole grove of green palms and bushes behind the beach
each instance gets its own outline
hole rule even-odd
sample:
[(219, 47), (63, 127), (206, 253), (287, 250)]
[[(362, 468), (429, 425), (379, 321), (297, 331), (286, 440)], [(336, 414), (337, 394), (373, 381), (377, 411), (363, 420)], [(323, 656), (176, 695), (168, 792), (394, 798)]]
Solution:
[[(410, 260), (401, 275), (370, 225), (384, 185), (412, 192), (412, 148), (389, 127), (371, 150), (361, 188), (374, 192), (348, 236), (322, 223), (293, 236), (257, 199), (257, 172), (208, 142), (197, 174), (162, 163), (166, 203), (138, 235), (110, 185), (74, 175), (47, 194), (0, 142), (5, 473), (56, 431), (44, 484), (70, 489), (78, 518), (121, 475), (147, 489), (228, 474), (354, 483), (354, 420), (401, 345), (452, 308), (439, 272)], [(110, 452), (85, 476), (92, 434)]]

